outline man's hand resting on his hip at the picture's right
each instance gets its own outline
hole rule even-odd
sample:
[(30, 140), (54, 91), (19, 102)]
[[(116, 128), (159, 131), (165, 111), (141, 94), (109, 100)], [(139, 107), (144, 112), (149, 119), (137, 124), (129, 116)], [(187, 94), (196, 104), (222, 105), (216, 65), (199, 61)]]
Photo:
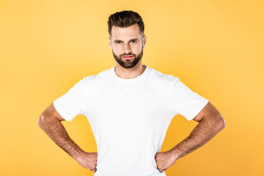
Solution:
[(172, 151), (159, 152), (155, 155), (155, 160), (157, 163), (158, 170), (160, 172), (166, 171), (170, 166), (172, 166), (176, 160), (172, 155)]

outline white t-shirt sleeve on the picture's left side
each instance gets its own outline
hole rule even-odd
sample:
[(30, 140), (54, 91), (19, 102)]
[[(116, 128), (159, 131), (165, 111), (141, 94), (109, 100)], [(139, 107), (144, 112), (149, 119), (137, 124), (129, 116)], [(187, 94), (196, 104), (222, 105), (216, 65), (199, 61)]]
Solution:
[(85, 115), (85, 78), (77, 82), (67, 93), (53, 101), (54, 108), (67, 121), (76, 115)]

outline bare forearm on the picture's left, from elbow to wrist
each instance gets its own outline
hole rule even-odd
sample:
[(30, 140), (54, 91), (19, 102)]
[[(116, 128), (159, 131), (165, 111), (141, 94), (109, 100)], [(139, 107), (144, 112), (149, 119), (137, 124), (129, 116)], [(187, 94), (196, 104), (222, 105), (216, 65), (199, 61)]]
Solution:
[(84, 152), (72, 141), (64, 126), (57, 118), (39, 118), (39, 126), (52, 141), (75, 160)]

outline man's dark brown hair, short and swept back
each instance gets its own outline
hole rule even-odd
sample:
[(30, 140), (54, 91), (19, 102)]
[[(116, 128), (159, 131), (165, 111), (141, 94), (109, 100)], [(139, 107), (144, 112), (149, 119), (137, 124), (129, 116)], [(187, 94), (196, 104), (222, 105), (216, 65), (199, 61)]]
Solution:
[(118, 27), (129, 27), (132, 24), (137, 23), (140, 27), (140, 33), (142, 37), (144, 36), (144, 22), (141, 18), (141, 16), (137, 12), (133, 12), (131, 10), (124, 10), (121, 12), (116, 12), (109, 16), (108, 18), (108, 33), (110, 38), (111, 30), (113, 25)]

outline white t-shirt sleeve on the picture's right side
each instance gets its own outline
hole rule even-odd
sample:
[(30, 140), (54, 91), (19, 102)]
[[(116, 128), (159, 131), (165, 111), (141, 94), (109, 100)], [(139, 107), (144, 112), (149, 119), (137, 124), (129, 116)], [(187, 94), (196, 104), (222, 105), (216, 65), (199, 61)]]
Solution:
[(170, 111), (173, 116), (181, 114), (188, 121), (192, 120), (209, 102), (206, 98), (193, 92), (179, 78), (172, 88)]

